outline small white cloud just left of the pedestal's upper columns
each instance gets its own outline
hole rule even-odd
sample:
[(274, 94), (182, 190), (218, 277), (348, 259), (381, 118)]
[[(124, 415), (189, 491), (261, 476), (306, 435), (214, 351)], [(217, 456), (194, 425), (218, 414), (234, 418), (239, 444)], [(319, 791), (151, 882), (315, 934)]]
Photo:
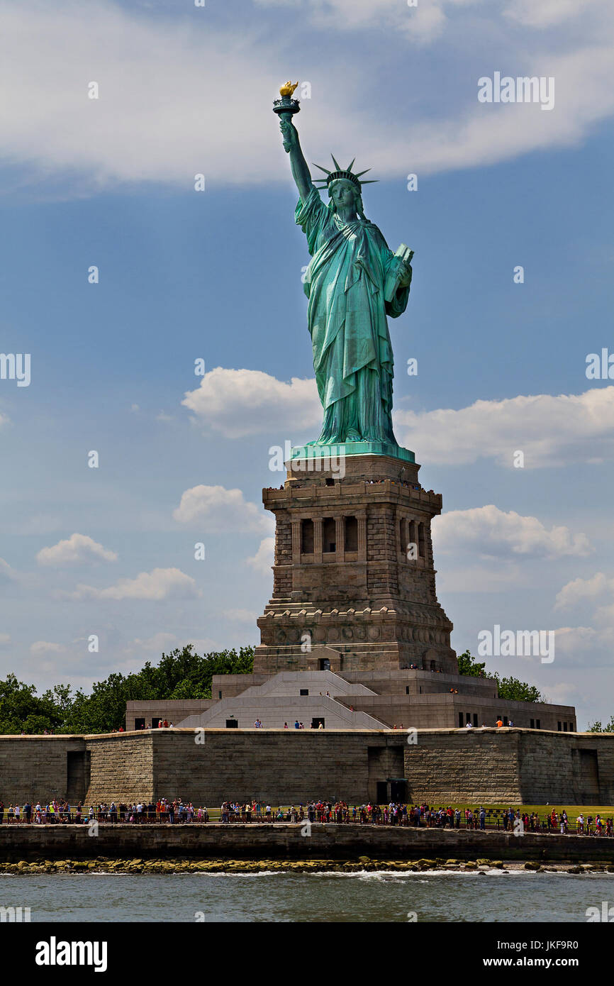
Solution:
[(181, 494), (172, 516), (179, 524), (191, 524), (207, 532), (268, 530), (273, 523), (262, 508), (243, 499), (239, 489), (224, 486), (192, 486)]

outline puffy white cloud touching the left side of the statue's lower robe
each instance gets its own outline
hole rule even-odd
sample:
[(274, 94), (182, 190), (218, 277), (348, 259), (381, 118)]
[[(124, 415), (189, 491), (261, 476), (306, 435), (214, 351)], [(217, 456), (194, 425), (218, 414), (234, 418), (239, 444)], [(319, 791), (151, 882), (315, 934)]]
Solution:
[(322, 420), (313, 379), (293, 377), (285, 384), (260, 370), (216, 367), (205, 374), (196, 390), (185, 394), (181, 403), (200, 423), (226, 438), (278, 432), (280, 422), (286, 437), (289, 431), (304, 432)]

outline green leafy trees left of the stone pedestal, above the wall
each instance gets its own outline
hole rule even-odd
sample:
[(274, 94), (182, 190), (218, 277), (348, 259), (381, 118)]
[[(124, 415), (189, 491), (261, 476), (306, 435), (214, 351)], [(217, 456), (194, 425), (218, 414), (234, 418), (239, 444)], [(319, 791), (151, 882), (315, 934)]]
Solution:
[(11, 733), (109, 733), (125, 725), (126, 702), (171, 698), (211, 698), (214, 674), (249, 674), (253, 648), (220, 651), (200, 657), (188, 644), (163, 654), (160, 664), (148, 661), (131, 674), (113, 672), (96, 681), (92, 692), (72, 691), (57, 684), (36, 695), (34, 684), (14, 674), (0, 680), (0, 735)]

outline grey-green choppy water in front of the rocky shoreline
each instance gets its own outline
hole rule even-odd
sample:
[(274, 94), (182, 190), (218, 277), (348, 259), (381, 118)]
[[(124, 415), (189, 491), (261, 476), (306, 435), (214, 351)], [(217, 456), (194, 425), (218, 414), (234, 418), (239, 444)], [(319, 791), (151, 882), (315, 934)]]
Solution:
[[(614, 875), (423, 873), (42, 875), (0, 878), (0, 906), (52, 922), (585, 922)], [(202, 920), (202, 919), (201, 919)]]

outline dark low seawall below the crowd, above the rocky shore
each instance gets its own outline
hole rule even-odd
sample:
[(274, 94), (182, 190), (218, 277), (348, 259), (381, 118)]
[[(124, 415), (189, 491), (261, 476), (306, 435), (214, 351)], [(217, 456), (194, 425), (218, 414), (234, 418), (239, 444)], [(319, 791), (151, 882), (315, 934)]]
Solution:
[[(305, 834), (308, 831), (309, 834)], [(288, 859), (614, 862), (614, 839), (359, 824), (2, 825), (0, 864), (20, 860)]]

